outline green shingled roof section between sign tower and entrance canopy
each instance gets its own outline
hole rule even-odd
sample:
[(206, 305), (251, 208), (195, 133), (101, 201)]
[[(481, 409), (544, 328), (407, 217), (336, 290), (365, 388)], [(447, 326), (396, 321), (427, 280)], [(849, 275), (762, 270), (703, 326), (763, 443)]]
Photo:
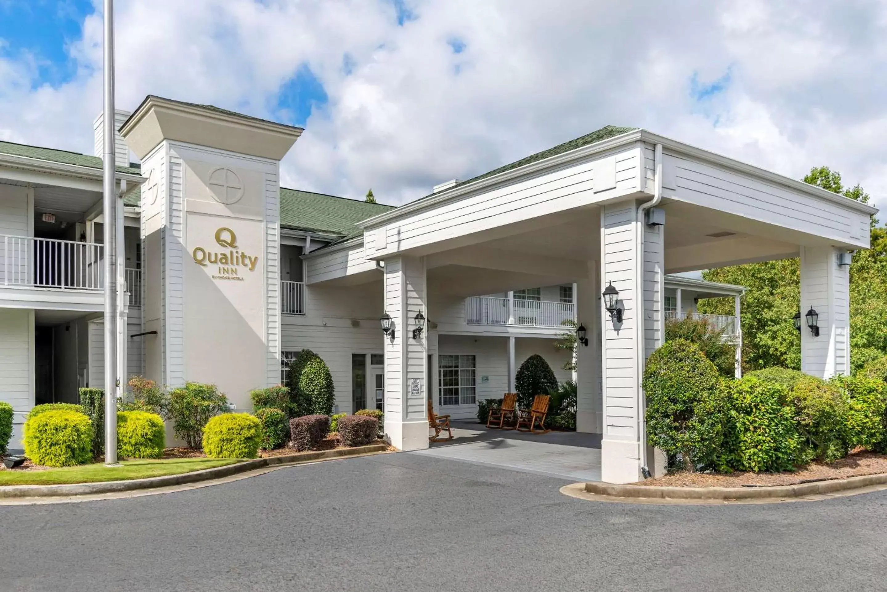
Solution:
[(357, 199), (280, 188), (280, 226), (293, 230), (330, 232), (350, 238), (361, 234), (357, 222), (384, 214), (394, 206)]

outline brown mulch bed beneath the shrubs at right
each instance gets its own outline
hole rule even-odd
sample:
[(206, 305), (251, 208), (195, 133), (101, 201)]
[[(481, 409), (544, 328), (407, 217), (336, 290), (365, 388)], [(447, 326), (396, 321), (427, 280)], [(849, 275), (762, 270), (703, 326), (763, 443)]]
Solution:
[(646, 479), (638, 485), (657, 487), (755, 487), (798, 485), (824, 479), (846, 479), (887, 473), (887, 455), (860, 451), (834, 463), (810, 463), (794, 472), (675, 472), (659, 479)]

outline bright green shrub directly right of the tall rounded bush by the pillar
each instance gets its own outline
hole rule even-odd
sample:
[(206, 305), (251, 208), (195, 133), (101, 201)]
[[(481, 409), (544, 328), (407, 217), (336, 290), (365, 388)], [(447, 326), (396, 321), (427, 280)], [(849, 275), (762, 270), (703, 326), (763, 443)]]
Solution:
[(800, 452), (789, 389), (754, 377), (724, 383), (729, 423), (721, 470), (791, 471)]

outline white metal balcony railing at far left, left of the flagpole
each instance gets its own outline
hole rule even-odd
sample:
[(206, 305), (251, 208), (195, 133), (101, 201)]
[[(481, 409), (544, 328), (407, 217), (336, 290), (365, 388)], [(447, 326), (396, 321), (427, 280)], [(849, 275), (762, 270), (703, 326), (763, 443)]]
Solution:
[(102, 290), (104, 245), (0, 235), (0, 285)]

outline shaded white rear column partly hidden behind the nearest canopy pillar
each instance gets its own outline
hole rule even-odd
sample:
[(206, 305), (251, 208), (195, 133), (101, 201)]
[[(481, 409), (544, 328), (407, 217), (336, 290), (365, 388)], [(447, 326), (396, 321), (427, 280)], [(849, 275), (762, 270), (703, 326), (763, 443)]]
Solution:
[(588, 345), (577, 344), (576, 431), (603, 432), (600, 403), (600, 287), (597, 261), (588, 261), (588, 277), (577, 282), (573, 298), (577, 323), (585, 326)]

